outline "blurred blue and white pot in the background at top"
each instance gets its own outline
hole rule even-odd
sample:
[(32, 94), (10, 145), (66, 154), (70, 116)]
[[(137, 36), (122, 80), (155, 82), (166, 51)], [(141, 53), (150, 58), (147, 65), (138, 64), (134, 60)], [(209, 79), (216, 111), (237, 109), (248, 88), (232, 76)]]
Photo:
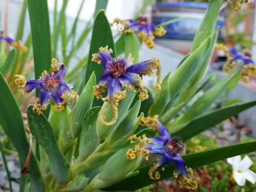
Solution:
[[(162, 37), (164, 39), (182, 39), (193, 40), (195, 33), (197, 32), (203, 15), (208, 7), (208, 3), (197, 2), (160, 2), (156, 4), (159, 12), (152, 18), (152, 22), (155, 25), (164, 23), (166, 21), (186, 17), (186, 19), (171, 23), (165, 27), (166, 34)], [(220, 16), (217, 21), (217, 26), (220, 26), (219, 38), (223, 38), (221, 29), (225, 26), (224, 16)]]

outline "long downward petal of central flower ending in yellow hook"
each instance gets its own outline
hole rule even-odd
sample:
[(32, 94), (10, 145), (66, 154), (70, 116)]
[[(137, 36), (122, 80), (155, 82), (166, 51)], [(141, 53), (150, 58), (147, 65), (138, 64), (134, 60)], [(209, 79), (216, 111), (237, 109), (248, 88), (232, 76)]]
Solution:
[(110, 103), (113, 111), (113, 117), (111, 121), (105, 122), (104, 121), (105, 115), (100, 115), (99, 121), (101, 122), (101, 124), (109, 126), (109, 125), (113, 125), (116, 122), (117, 115), (118, 115), (118, 110), (117, 110), (118, 102), (121, 99), (125, 98), (125, 91), (121, 91), (121, 89), (122, 89), (122, 85), (118, 79), (112, 79), (112, 78), (108, 79), (108, 95), (105, 98), (102, 98), (102, 100), (104, 102)]

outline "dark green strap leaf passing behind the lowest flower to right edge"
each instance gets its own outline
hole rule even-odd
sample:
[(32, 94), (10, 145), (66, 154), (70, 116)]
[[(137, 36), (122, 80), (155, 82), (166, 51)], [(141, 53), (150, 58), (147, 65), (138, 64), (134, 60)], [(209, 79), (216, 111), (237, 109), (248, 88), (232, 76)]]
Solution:
[[(244, 153), (250, 153), (256, 150), (256, 141), (248, 142), (244, 144), (237, 144), (231, 146), (225, 146), (218, 149), (207, 150), (199, 153), (191, 153), (182, 156), (187, 167), (197, 168), (215, 161), (219, 161), (225, 158), (237, 156)], [(139, 169), (139, 174), (129, 177), (120, 183), (110, 186), (109, 188), (103, 189), (104, 191), (116, 191), (116, 190), (127, 190), (134, 191), (147, 185), (153, 184), (156, 180), (150, 179), (148, 176), (148, 170), (151, 165), (144, 166)], [(160, 169), (158, 170), (160, 171)], [(160, 171), (160, 180), (167, 179), (173, 176), (174, 164), (170, 163), (165, 167), (164, 171)]]

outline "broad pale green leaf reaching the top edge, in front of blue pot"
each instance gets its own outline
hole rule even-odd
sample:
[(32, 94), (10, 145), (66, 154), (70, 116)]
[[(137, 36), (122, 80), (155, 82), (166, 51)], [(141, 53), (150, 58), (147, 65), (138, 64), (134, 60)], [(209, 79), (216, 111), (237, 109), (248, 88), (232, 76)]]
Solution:
[(205, 40), (214, 30), (222, 3), (223, 0), (215, 0), (209, 2), (205, 16), (203, 17), (201, 25), (195, 34), (190, 52), (195, 51), (199, 44)]

